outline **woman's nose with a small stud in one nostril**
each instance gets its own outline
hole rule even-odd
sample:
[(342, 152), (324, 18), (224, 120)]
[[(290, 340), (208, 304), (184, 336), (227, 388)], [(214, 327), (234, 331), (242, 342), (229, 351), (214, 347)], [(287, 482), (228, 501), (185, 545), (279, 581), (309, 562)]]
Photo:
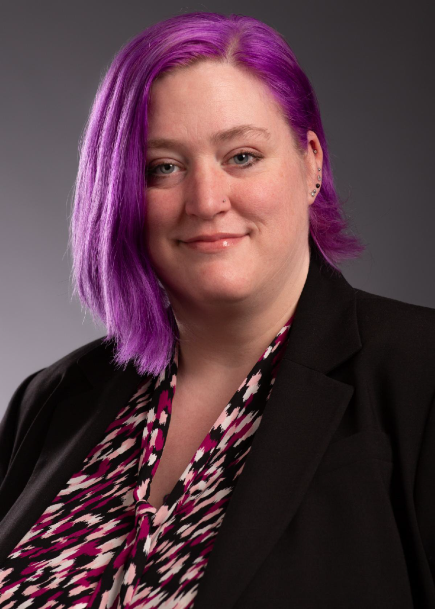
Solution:
[(230, 209), (228, 174), (215, 161), (202, 161), (189, 176), (185, 192), (185, 211), (204, 220)]

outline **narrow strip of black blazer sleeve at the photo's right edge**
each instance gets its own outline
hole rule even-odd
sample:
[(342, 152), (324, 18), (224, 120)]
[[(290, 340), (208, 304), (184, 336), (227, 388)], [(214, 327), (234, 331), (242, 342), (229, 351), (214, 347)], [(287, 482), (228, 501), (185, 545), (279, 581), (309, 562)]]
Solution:
[(417, 461), (414, 505), (426, 557), (435, 583), (435, 395)]

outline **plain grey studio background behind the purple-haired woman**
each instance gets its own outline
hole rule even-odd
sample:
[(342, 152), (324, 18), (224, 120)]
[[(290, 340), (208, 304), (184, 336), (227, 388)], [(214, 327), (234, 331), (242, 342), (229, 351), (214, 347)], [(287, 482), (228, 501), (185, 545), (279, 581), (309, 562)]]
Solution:
[(368, 244), (355, 287), (435, 308), (433, 2), (1, 2), (0, 417), (18, 384), (105, 335), (70, 300), (77, 146), (127, 39), (194, 10), (281, 32), (313, 83), (338, 191)]

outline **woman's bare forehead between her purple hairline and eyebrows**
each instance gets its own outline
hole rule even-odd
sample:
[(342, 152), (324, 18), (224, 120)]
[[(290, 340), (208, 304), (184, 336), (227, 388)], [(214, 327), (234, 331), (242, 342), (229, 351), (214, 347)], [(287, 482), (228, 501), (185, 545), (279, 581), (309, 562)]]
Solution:
[(207, 135), (214, 144), (235, 135), (270, 139), (285, 124), (263, 82), (240, 68), (216, 62), (197, 63), (159, 77), (150, 90), (147, 122), (150, 139), (184, 131)]

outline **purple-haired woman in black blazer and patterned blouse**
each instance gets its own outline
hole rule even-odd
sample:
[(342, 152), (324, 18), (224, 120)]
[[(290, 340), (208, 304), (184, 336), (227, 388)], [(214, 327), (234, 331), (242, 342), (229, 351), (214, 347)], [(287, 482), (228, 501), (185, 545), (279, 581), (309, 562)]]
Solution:
[(83, 136), (107, 326), (1, 428), (2, 607), (435, 607), (434, 309), (354, 289), (316, 97), (241, 15), (157, 23)]

